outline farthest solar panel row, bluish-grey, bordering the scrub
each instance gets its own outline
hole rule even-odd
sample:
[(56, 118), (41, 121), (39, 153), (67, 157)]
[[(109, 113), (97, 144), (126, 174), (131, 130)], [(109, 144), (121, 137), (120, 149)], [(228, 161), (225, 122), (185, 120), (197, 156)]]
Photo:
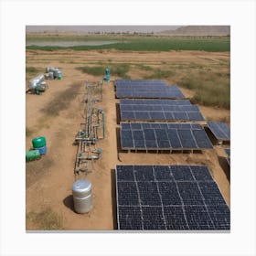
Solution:
[(183, 93), (162, 80), (115, 80), (116, 98), (183, 99)]

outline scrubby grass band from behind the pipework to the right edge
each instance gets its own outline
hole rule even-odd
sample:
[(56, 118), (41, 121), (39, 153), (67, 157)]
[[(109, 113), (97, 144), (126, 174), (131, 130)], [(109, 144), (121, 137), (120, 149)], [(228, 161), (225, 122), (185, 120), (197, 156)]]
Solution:
[[(111, 69), (111, 74), (122, 79), (130, 79), (137, 70), (144, 71), (140, 79), (170, 80), (181, 88), (189, 89), (195, 94), (191, 101), (205, 106), (214, 106), (223, 109), (230, 108), (230, 77), (229, 62), (219, 65), (187, 65), (160, 66), (139, 65), (134, 63), (109, 63), (77, 67), (81, 72), (93, 76), (102, 76), (105, 68)], [(185, 71), (186, 70), (186, 71)]]

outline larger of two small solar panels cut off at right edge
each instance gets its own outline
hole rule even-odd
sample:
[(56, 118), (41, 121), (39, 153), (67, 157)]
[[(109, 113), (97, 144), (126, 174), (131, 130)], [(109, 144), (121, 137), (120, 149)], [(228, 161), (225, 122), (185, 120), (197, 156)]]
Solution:
[(218, 140), (230, 140), (230, 128), (227, 123), (209, 121), (208, 128)]

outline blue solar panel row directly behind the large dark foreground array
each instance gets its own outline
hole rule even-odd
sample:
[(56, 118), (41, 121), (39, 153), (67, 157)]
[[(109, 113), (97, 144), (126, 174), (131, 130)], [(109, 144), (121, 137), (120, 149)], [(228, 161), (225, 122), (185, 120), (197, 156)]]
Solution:
[(121, 123), (122, 149), (185, 150), (212, 148), (198, 123)]

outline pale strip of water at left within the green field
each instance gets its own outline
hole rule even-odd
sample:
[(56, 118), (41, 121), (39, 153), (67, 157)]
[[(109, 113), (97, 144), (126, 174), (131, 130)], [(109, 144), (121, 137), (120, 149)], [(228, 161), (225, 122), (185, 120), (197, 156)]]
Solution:
[(117, 41), (46, 41), (46, 42), (27, 42), (26, 46), (37, 47), (78, 47), (78, 46), (104, 46), (115, 44)]

